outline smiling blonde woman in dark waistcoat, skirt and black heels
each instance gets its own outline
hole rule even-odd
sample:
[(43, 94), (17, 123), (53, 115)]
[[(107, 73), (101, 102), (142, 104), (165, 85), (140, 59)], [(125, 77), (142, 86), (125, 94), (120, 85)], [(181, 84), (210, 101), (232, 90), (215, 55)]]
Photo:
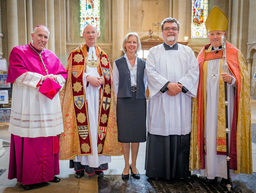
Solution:
[[(122, 179), (139, 179), (136, 159), (140, 142), (146, 141), (146, 88), (145, 60), (138, 57), (141, 43), (137, 33), (128, 33), (122, 44), (123, 57), (113, 65), (113, 85), (117, 95), (118, 141), (122, 144), (125, 168)], [(131, 149), (131, 164), (129, 154)]]

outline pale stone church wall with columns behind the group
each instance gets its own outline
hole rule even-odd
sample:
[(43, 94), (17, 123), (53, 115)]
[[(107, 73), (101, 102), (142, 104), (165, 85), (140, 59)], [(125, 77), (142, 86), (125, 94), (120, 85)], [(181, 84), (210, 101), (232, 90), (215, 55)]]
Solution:
[[(71, 50), (84, 42), (79, 34), (79, 0), (0, 0), (0, 58), (9, 58), (14, 46), (31, 41), (31, 33), (37, 25), (50, 30), (47, 49), (56, 53), (63, 66)], [(227, 40), (244, 54), (251, 75), (256, 70), (256, 1), (210, 0), (229, 18)], [(174, 17), (181, 23), (178, 41), (185, 41), (196, 56), (209, 43), (208, 38), (190, 38), (190, 0), (101, 0), (101, 35), (97, 45), (104, 50), (111, 65), (122, 56), (120, 50), (124, 36), (137, 32), (146, 40), (148, 30), (153, 39), (162, 39), (159, 24), (166, 17)], [(252, 80), (253, 81), (253, 80)], [(253, 82), (256, 85), (256, 83)]]

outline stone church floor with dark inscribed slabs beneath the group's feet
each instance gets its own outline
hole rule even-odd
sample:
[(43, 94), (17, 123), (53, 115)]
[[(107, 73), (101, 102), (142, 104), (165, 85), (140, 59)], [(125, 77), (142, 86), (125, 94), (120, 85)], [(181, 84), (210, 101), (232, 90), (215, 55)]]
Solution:
[[(256, 101), (251, 101), (251, 122), (256, 124)], [(10, 141), (8, 133), (8, 122), (0, 123), (0, 138)], [(254, 125), (255, 126), (255, 125)], [(256, 126), (255, 126), (256, 127)], [(237, 180), (233, 180), (232, 192), (256, 192), (256, 144), (253, 146), (253, 175), (240, 174)], [(109, 169), (104, 171), (104, 176), (85, 175), (81, 179), (74, 177), (73, 169), (69, 169), (69, 161), (59, 161), (61, 181), (59, 183), (45, 182), (33, 186), (27, 192), (47, 192), (47, 193), (178, 193), (178, 192), (227, 192), (220, 186), (220, 179), (216, 184), (208, 185), (204, 183), (203, 177), (192, 174), (191, 178), (183, 180), (148, 179), (145, 176), (145, 148), (146, 143), (141, 143), (137, 159), (137, 169), (141, 174), (141, 179), (129, 178), (122, 180), (121, 174), (124, 169), (123, 156), (112, 157)], [(0, 157), (0, 193), (24, 192), (22, 184), (16, 179), (9, 180), (8, 167), (10, 147), (5, 146), (6, 153)]]

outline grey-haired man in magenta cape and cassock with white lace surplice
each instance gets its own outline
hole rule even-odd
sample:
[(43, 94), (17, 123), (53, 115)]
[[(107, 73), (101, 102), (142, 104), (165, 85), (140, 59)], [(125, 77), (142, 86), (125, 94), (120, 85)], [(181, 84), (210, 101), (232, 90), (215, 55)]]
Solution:
[(59, 174), (58, 135), (63, 132), (59, 94), (51, 89), (56, 93), (51, 100), (39, 88), (47, 77), (61, 87), (67, 78), (57, 56), (44, 49), (49, 30), (39, 25), (31, 37), (31, 43), (11, 51), (7, 76), (7, 82), (13, 83), (8, 179), (17, 178), (24, 189), (34, 183), (60, 181), (55, 176)]

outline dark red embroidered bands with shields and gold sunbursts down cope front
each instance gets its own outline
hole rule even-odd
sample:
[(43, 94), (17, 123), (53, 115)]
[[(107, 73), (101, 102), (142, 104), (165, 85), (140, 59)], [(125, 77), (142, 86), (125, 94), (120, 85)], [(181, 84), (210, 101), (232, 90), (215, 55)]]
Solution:
[[(100, 64), (97, 67), (99, 74), (103, 74), (103, 93), (102, 98), (99, 100), (99, 119), (98, 119), (98, 155), (102, 155), (103, 145), (105, 141), (109, 110), (111, 99), (111, 76), (110, 76), (110, 64), (106, 54), (102, 54), (101, 49), (96, 46), (96, 56), (100, 60)], [(79, 134), (80, 151), (81, 155), (92, 155), (92, 146), (90, 138), (90, 128), (88, 119), (88, 109), (86, 103), (86, 95), (84, 92), (83, 74), (86, 72), (85, 57), (87, 51), (83, 52), (83, 46), (80, 46), (80, 50), (71, 53), (71, 88), (72, 88), (72, 103), (75, 114), (76, 127)], [(100, 96), (101, 94), (99, 94)]]

